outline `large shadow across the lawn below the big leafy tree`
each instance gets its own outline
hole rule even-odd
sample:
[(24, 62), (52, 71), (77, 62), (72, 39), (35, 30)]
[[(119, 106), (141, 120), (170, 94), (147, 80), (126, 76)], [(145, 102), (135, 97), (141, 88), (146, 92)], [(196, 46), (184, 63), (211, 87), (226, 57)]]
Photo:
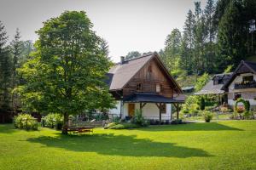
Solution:
[(173, 143), (155, 142), (149, 139), (137, 139), (130, 135), (92, 134), (92, 135), (57, 135), (56, 137), (40, 136), (27, 139), (32, 143), (44, 144), (78, 152), (96, 152), (108, 156), (162, 156), (162, 157), (208, 157), (205, 150), (178, 146)]

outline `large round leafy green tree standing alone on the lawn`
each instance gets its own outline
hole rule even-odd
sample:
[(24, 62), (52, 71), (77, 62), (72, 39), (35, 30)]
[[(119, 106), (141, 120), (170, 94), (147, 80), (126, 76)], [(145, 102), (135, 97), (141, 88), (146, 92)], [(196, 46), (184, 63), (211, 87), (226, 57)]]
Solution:
[(26, 79), (20, 87), (26, 110), (63, 114), (62, 133), (67, 133), (69, 115), (113, 107), (102, 82), (111, 62), (91, 28), (83, 11), (66, 11), (47, 20), (37, 31), (36, 52), (20, 69)]

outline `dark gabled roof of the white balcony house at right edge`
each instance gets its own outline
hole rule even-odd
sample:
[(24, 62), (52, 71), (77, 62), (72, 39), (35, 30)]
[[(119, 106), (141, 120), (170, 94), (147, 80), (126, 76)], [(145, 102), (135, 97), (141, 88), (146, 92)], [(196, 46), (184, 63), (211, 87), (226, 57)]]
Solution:
[(221, 88), (222, 90), (226, 90), (230, 86), (230, 83), (236, 78), (237, 71), (239, 71), (242, 66), (246, 66), (249, 71), (256, 74), (256, 63), (241, 60), (240, 65), (236, 67), (236, 71), (233, 72), (229, 81), (224, 84), (223, 88)]

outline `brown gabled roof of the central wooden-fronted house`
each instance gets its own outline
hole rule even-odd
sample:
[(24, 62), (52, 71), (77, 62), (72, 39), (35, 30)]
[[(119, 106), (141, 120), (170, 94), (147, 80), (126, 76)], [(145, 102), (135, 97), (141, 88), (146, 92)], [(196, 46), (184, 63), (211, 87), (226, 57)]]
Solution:
[(124, 63), (118, 63), (113, 65), (113, 67), (108, 71), (108, 86), (109, 90), (120, 90), (125, 87), (125, 84), (134, 77), (138, 71), (140, 71), (144, 65), (146, 65), (151, 59), (156, 57), (160, 65), (163, 67), (164, 71), (166, 72), (167, 76), (172, 80), (174, 85), (177, 87), (177, 91), (182, 93), (181, 88), (177, 85), (177, 82), (172, 78), (170, 73), (166, 70), (166, 67), (160, 61), (158, 54), (145, 54), (141, 57), (136, 59), (125, 60)]

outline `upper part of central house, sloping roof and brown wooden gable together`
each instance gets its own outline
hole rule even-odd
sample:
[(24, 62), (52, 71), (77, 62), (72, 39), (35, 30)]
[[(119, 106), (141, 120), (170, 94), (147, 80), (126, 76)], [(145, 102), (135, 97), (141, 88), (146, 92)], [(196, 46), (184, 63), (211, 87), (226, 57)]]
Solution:
[[(124, 96), (138, 91), (155, 93), (156, 88), (160, 88), (158, 94), (166, 97), (182, 94), (181, 88), (171, 77), (156, 53), (114, 65), (108, 71), (107, 76), (109, 90), (122, 90)], [(141, 86), (141, 89), (138, 90), (138, 86)]]

